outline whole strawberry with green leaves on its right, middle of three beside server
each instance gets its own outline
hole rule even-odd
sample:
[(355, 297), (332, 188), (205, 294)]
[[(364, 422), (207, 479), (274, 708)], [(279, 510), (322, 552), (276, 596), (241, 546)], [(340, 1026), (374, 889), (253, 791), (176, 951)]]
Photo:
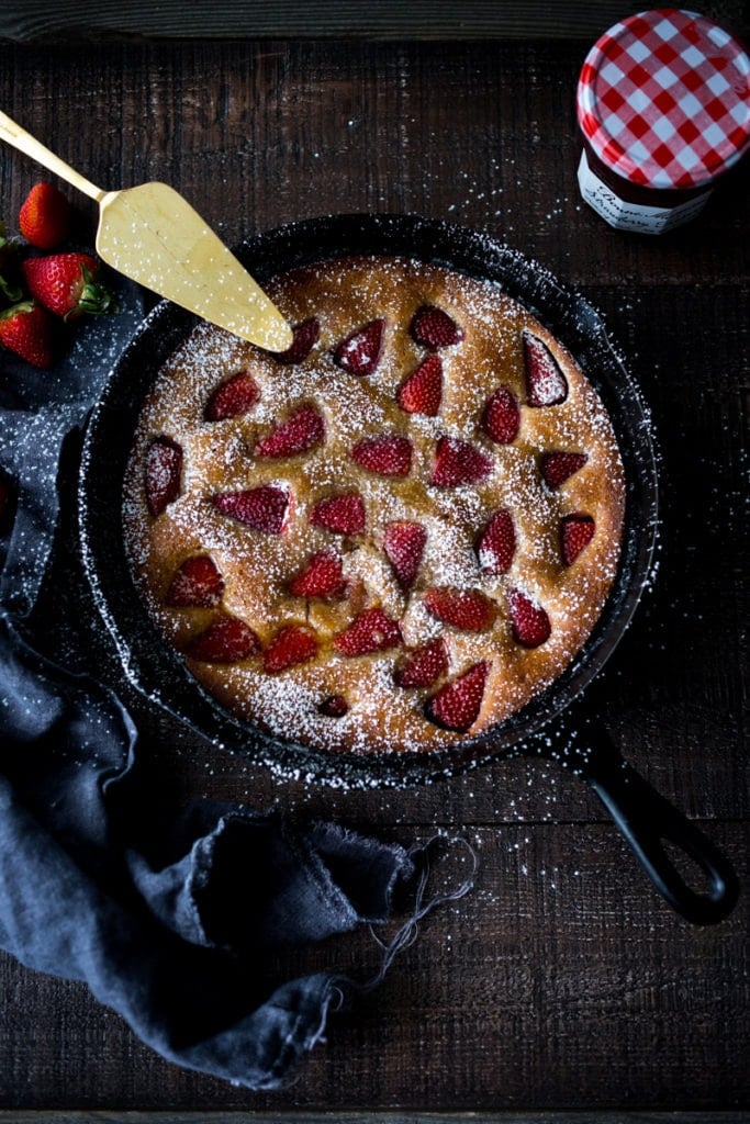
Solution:
[(101, 316), (112, 307), (111, 293), (96, 281), (99, 263), (89, 254), (27, 257), (21, 271), (31, 296), (64, 320)]

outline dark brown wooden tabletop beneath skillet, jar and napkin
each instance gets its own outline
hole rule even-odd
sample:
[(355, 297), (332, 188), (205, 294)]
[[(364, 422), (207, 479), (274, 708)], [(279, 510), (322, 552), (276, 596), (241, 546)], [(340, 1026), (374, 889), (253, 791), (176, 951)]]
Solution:
[[(678, 917), (595, 796), (553, 765), (499, 763), (414, 790), (316, 788), (226, 756), (133, 700), (165, 804), (206, 794), (403, 842), (459, 834), (479, 856), (476, 886), (428, 918), (385, 984), (335, 1016), (296, 1084), (273, 1095), (165, 1063), (83, 986), (0, 957), (8, 1120), (26, 1120), (22, 1109), (56, 1109), (55, 1120), (64, 1109), (108, 1120), (642, 1109), (641, 1120), (735, 1121), (750, 1109), (750, 169), (690, 227), (660, 239), (609, 229), (576, 184), (588, 45), (8, 40), (0, 106), (103, 187), (171, 182), (229, 243), (324, 212), (416, 212), (507, 241), (602, 309), (653, 415), (663, 515), (654, 588), (588, 699), (624, 755), (730, 856), (739, 905), (715, 926)], [(6, 215), (38, 178), (0, 151)], [(367, 976), (377, 961), (362, 932), (279, 964)]]

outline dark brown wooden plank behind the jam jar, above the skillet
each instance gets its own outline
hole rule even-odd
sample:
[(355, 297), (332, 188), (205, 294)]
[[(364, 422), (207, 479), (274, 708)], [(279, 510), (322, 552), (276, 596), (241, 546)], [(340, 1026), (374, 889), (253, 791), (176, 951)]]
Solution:
[[(572, 284), (747, 279), (747, 162), (698, 223), (661, 238), (623, 236), (579, 199), (584, 54), (551, 42), (354, 43), (345, 56), (305, 42), (6, 48), (2, 90), (11, 116), (103, 187), (168, 175), (231, 242), (329, 211), (407, 210), (487, 230)], [(100, 127), (82, 130), (92, 112)], [(38, 170), (9, 160), (20, 194)]]

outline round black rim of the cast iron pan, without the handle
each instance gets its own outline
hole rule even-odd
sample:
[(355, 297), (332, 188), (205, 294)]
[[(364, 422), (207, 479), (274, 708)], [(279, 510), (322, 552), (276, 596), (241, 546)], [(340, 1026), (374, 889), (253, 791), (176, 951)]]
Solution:
[(656, 546), (657, 469), (650, 420), (602, 317), (537, 263), (491, 236), (415, 215), (320, 216), (259, 234), (236, 253), (261, 283), (273, 273), (350, 253), (413, 256), (499, 281), (567, 344), (613, 417), (627, 478), (621, 564), (602, 617), (573, 662), (519, 714), (479, 737), (448, 750), (392, 758), (326, 754), (234, 717), (160, 636), (135, 588), (123, 540), (123, 473), (139, 404), (157, 366), (197, 323), (183, 309), (162, 301), (123, 352), (91, 413), (79, 486), (84, 570), (128, 680), (197, 733), (281, 777), (345, 787), (401, 787), (536, 752), (534, 742), (544, 740), (544, 727), (582, 692), (616, 647), (649, 581)]

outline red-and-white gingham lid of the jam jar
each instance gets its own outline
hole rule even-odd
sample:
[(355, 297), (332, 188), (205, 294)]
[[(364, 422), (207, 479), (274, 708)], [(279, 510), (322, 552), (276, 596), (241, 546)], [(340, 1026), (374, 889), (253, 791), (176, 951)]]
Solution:
[(750, 58), (696, 12), (630, 16), (586, 56), (578, 120), (599, 160), (632, 183), (701, 187), (750, 144)]

